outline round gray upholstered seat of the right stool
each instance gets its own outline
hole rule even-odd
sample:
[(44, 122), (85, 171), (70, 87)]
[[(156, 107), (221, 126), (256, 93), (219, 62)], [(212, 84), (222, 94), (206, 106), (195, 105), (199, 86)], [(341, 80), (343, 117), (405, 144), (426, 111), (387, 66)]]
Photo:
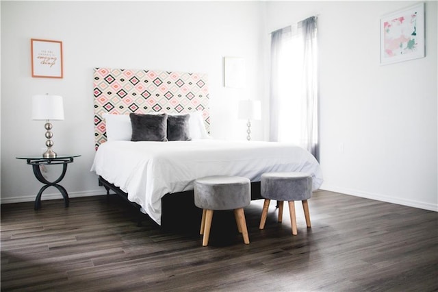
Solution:
[(270, 172), (261, 175), (261, 196), (277, 201), (302, 201), (312, 197), (312, 177), (302, 172)]

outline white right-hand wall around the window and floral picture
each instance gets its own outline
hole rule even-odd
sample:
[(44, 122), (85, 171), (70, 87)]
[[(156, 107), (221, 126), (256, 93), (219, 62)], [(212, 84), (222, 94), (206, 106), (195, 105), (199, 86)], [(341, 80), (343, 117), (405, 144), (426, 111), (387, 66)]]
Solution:
[(268, 32), (319, 14), (322, 188), (438, 210), (437, 2), (426, 58), (379, 65), (379, 19), (415, 2), (274, 2)]

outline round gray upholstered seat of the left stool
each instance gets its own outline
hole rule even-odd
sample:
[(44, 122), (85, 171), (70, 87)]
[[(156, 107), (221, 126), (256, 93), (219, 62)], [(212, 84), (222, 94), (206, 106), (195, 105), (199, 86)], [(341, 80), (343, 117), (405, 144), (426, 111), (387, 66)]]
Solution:
[(209, 210), (244, 208), (251, 202), (250, 180), (240, 176), (209, 176), (194, 181), (194, 204)]

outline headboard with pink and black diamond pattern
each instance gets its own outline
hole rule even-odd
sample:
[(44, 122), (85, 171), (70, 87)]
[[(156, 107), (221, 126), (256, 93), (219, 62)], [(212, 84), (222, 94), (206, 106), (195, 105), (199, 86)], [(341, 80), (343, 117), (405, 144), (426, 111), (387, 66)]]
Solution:
[(183, 113), (203, 111), (209, 132), (207, 74), (95, 68), (94, 138), (96, 149), (107, 141), (104, 113)]

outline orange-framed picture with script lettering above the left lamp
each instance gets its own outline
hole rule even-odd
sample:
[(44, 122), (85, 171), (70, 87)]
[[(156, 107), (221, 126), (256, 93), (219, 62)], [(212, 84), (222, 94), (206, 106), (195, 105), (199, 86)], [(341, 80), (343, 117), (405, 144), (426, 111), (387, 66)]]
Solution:
[(62, 78), (62, 42), (31, 38), (32, 77)]

